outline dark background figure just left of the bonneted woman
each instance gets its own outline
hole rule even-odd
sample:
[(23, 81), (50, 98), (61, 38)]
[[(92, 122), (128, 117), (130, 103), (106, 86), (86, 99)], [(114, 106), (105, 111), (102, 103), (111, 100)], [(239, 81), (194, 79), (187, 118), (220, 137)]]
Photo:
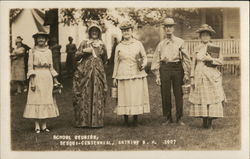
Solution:
[(73, 38), (69, 36), (68, 38), (69, 44), (66, 45), (66, 68), (69, 76), (73, 75), (74, 68), (75, 68), (75, 53), (77, 51), (76, 44), (73, 43)]

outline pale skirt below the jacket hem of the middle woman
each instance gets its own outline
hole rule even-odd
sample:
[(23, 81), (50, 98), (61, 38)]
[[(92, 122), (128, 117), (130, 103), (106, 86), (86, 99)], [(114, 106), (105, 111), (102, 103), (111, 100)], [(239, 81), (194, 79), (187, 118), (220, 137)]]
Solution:
[(147, 78), (118, 80), (117, 115), (139, 115), (150, 112)]

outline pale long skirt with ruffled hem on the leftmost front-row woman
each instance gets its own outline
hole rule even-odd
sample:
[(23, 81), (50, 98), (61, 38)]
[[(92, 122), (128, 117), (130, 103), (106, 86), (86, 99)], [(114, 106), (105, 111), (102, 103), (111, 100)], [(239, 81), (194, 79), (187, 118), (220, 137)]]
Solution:
[(56, 101), (53, 98), (53, 78), (48, 68), (35, 69), (35, 86), (36, 90), (31, 90), (29, 84), (29, 92), (27, 104), (24, 109), (24, 118), (46, 119), (59, 116)]

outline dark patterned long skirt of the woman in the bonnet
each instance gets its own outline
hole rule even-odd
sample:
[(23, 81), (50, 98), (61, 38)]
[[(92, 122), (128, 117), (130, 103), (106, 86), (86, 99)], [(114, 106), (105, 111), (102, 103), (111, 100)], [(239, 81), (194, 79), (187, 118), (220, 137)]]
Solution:
[(103, 127), (107, 81), (102, 60), (83, 59), (73, 76), (73, 107), (76, 127)]

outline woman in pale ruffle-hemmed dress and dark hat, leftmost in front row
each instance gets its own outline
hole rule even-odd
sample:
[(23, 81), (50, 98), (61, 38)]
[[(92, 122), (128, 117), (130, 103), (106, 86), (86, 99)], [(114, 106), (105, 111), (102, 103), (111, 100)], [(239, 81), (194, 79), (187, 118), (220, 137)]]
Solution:
[[(28, 73), (29, 91), (23, 117), (35, 119), (35, 132), (49, 132), (46, 119), (59, 116), (53, 99), (53, 85), (59, 84), (57, 72), (53, 68), (52, 53), (46, 45), (48, 34), (38, 32), (33, 35), (35, 47), (29, 51)], [(41, 126), (40, 126), (41, 124)]]

